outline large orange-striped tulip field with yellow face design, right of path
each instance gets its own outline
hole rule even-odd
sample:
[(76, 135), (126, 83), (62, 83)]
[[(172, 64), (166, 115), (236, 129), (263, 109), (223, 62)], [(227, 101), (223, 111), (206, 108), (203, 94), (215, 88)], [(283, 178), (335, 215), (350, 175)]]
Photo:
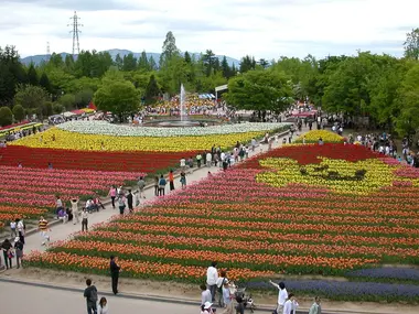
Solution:
[[(275, 167), (278, 159), (320, 170), (282, 173)], [(366, 167), (364, 176), (347, 174), (353, 163)], [(321, 184), (302, 184), (304, 175)], [(354, 180), (357, 190), (333, 188), (336, 182), (351, 187)], [(363, 147), (290, 145), (55, 243), (25, 263), (107, 274), (108, 257), (117, 255), (125, 270), (121, 275), (200, 283), (211, 261), (217, 260), (229, 278), (259, 288), (278, 274), (350, 278), (350, 272), (383, 263), (419, 264), (418, 192), (418, 172)], [(419, 301), (419, 280), (362, 273), (356, 280), (357, 284), (342, 285), (333, 280), (314, 282), (333, 283), (333, 289), (323, 291), (331, 299)], [(389, 283), (395, 280), (400, 282)], [(286, 282), (301, 292), (313, 292), (315, 285)]]

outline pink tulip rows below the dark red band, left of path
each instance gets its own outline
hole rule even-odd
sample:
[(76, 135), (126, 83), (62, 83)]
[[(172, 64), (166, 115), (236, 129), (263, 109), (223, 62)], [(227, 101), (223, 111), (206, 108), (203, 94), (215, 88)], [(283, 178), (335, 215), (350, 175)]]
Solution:
[(63, 202), (105, 195), (111, 185), (122, 185), (141, 175), (146, 174), (0, 166), (0, 202), (6, 205), (0, 207), (0, 227), (11, 219), (39, 216), (54, 208), (56, 195)]

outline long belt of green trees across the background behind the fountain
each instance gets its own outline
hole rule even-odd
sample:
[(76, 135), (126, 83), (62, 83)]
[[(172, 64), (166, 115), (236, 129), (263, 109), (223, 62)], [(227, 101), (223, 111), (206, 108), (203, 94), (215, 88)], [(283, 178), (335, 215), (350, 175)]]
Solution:
[(369, 52), (271, 62), (245, 56), (238, 67), (211, 50), (200, 57), (181, 53), (172, 32), (159, 61), (146, 52), (138, 59), (129, 54), (114, 61), (107, 52), (87, 51), (76, 59), (53, 54), (37, 66), (24, 66), (14, 47), (7, 46), (0, 50), (0, 102), (47, 116), (94, 99), (99, 108), (123, 116), (143, 101), (178, 94), (181, 83), (197, 93), (228, 83), (225, 99), (238, 109), (281, 111), (290, 99), (309, 97), (325, 111), (367, 116), (370, 126), (413, 134), (419, 127), (418, 56), (419, 29), (407, 35), (402, 58)]

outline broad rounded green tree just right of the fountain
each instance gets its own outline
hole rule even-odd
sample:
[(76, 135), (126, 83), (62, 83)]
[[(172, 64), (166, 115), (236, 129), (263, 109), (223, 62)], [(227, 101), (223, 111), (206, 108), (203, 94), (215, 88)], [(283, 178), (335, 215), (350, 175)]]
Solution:
[(223, 97), (237, 109), (280, 112), (289, 106), (292, 96), (288, 80), (283, 72), (249, 71), (230, 78)]

